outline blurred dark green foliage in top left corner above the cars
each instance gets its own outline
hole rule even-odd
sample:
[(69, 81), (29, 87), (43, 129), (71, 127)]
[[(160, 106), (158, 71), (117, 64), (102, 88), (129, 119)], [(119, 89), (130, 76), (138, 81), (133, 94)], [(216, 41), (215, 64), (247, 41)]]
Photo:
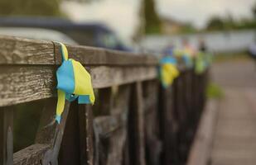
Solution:
[(2, 16), (61, 16), (60, 0), (1, 0)]

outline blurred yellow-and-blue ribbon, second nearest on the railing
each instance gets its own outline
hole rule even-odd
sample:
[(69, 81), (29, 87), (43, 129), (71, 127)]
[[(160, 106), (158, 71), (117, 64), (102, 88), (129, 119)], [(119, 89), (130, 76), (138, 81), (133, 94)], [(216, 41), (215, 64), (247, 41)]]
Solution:
[(159, 76), (162, 82), (162, 87), (171, 86), (173, 80), (179, 76), (179, 71), (176, 68), (176, 59), (167, 56), (160, 60)]

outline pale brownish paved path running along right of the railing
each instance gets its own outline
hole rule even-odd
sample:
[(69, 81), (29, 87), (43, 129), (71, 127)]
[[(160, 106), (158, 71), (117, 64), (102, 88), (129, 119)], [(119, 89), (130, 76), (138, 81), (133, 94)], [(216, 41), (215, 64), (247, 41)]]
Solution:
[(215, 64), (212, 76), (225, 91), (215, 127), (211, 165), (256, 164), (256, 65)]

